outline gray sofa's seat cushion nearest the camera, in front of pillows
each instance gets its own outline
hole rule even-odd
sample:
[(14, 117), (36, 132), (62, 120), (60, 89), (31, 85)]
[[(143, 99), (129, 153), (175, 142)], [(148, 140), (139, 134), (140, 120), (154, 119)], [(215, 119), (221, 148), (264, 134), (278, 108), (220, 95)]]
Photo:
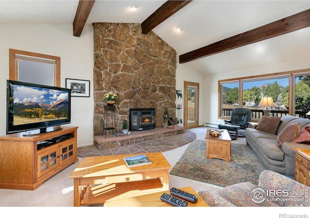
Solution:
[(274, 160), (284, 160), (284, 152), (278, 146), (278, 141), (272, 139), (260, 138), (256, 140), (256, 147), (263, 153), (265, 156), (274, 159)]

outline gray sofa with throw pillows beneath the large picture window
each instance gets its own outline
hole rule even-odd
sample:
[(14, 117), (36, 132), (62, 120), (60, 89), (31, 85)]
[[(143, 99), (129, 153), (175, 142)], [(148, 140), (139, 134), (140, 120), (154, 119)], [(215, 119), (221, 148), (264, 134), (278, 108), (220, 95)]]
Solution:
[(294, 176), (295, 153), (293, 148), (310, 149), (310, 145), (284, 142), (282, 147), (279, 147), (277, 137), (286, 126), (299, 123), (300, 129), (302, 129), (304, 126), (310, 125), (310, 120), (287, 115), (281, 117), (280, 121), (276, 134), (265, 132), (267, 131), (266, 129), (262, 131), (255, 128), (247, 128), (246, 140), (266, 169)]

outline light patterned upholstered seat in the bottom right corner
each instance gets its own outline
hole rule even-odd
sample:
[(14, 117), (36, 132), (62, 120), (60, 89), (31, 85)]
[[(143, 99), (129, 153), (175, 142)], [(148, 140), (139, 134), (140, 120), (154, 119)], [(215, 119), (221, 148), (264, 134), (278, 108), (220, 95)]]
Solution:
[[(277, 196), (273, 193), (276, 190)], [(261, 193), (262, 197), (260, 196)], [(282, 193), (282, 194), (281, 194)], [(289, 193), (288, 196), (287, 193)], [(258, 187), (246, 182), (217, 189), (200, 191), (209, 206), (310, 206), (309, 187), (274, 171), (261, 173)], [(308, 194), (309, 196), (309, 194)], [(252, 200), (253, 199), (253, 200)]]

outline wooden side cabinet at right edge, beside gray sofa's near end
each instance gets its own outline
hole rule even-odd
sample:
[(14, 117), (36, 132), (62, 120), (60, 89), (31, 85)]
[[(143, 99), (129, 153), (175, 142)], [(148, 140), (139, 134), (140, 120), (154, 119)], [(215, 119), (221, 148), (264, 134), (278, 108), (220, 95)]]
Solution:
[(310, 150), (293, 148), (295, 151), (295, 180), (310, 186)]

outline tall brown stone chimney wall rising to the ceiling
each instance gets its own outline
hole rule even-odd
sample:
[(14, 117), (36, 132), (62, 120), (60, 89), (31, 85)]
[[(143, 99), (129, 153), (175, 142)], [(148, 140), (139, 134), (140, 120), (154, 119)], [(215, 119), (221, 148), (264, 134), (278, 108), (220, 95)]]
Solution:
[[(175, 117), (175, 50), (152, 31), (142, 34), (140, 24), (93, 23), (93, 28), (94, 136), (103, 133), (108, 92), (118, 95), (117, 125), (124, 119), (131, 125), (130, 109), (155, 109), (156, 127), (162, 127), (166, 109)], [(111, 127), (111, 113), (107, 120)]]

